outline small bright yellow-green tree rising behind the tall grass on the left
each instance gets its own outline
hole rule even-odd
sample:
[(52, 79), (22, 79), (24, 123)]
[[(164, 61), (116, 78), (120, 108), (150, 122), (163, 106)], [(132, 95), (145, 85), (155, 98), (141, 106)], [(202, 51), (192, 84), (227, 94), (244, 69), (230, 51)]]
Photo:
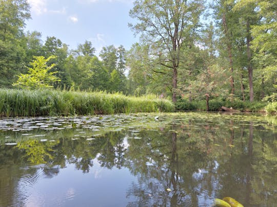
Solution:
[(47, 65), (47, 62), (52, 58), (55, 58), (55, 56), (50, 56), (47, 59), (43, 56), (34, 56), (34, 60), (30, 62), (32, 67), (28, 67), (28, 74), (18, 76), (18, 80), (13, 86), (28, 89), (52, 88), (54, 82), (60, 81), (54, 75), (57, 72), (50, 72), (55, 64)]

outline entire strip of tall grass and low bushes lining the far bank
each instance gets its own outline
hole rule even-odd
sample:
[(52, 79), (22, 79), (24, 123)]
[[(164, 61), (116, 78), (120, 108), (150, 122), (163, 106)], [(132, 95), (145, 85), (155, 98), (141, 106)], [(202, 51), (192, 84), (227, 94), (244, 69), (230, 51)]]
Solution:
[[(209, 101), (210, 111), (218, 111), (222, 106), (240, 111), (277, 112), (277, 102)], [(174, 106), (171, 101), (153, 95), (128, 97), (104, 92), (0, 89), (0, 117), (172, 112), (175, 109), (206, 110), (206, 101), (179, 100)]]

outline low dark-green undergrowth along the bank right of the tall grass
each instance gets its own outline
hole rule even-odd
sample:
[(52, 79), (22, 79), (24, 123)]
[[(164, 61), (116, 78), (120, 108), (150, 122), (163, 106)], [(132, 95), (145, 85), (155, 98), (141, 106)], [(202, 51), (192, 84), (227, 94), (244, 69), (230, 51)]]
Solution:
[[(219, 111), (221, 107), (232, 107), (233, 109), (240, 111), (251, 111), (251, 112), (264, 112), (275, 113), (277, 112), (277, 102), (268, 103), (268, 102), (248, 102), (241, 100), (223, 101), (212, 99), (209, 101), (210, 111)], [(176, 110), (206, 110), (206, 101), (192, 101), (188, 100), (179, 100), (176, 103)]]

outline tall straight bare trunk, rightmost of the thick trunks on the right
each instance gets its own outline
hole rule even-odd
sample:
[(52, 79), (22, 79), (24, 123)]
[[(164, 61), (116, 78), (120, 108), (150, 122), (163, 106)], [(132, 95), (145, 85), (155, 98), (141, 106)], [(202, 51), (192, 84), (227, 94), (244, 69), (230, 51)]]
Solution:
[(253, 67), (251, 64), (252, 54), (250, 49), (250, 41), (251, 41), (251, 34), (250, 34), (250, 22), (249, 19), (247, 19), (246, 22), (246, 41), (247, 41), (247, 61), (248, 61), (248, 79), (249, 79), (249, 97), (250, 102), (254, 101), (254, 91), (253, 91)]

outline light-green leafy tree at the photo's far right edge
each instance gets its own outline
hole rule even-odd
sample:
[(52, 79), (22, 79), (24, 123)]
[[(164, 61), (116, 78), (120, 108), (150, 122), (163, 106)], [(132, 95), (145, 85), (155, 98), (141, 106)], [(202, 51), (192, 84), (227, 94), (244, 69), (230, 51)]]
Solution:
[[(264, 0), (241, 0), (239, 8), (249, 7), (258, 11), (261, 18), (259, 25), (251, 27), (251, 49), (256, 63), (257, 75), (260, 76), (261, 98), (277, 93), (277, 3)], [(273, 85), (273, 87), (272, 87)]]

